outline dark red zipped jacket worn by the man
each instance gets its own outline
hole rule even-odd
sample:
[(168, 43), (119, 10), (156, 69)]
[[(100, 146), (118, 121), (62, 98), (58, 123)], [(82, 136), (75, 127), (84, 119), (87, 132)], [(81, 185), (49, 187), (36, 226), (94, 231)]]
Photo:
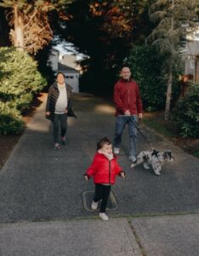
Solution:
[(126, 110), (130, 113), (142, 113), (142, 101), (139, 94), (138, 84), (130, 79), (121, 79), (115, 84), (114, 103), (116, 105), (116, 116), (123, 115)]

